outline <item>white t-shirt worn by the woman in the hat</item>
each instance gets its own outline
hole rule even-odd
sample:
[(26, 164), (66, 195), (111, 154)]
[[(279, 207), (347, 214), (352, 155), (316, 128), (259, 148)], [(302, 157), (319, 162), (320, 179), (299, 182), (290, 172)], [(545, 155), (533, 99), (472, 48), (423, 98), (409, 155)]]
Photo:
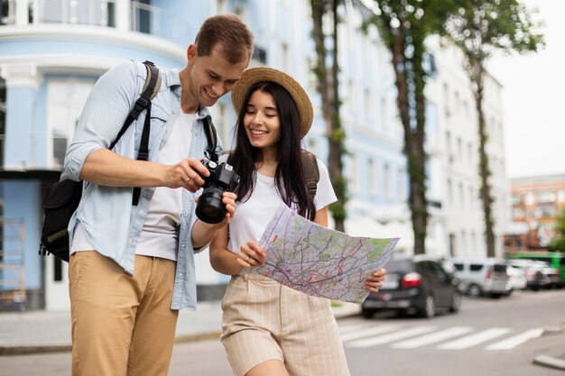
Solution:
[[(318, 160), (318, 168), (320, 180), (314, 197), (316, 210), (338, 200), (329, 181), (328, 169), (321, 160)], [(258, 242), (281, 203), (282, 198), (276, 190), (274, 178), (256, 173), (255, 189), (251, 197), (245, 202), (237, 203), (236, 216), (229, 223), (227, 249), (239, 252), (239, 248), (245, 243)]]

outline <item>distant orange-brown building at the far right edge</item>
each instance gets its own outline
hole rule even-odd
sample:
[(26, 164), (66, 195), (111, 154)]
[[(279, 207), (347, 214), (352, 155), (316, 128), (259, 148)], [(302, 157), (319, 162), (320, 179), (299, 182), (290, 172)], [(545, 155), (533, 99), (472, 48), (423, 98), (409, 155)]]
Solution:
[(511, 179), (512, 226), (506, 252), (547, 250), (565, 210), (565, 174)]

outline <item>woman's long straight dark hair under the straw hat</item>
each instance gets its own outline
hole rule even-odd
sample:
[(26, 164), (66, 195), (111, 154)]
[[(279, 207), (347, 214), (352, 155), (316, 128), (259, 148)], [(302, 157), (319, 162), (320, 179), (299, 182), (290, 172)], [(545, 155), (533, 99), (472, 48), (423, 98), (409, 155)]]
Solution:
[(237, 115), (236, 147), (227, 159), (227, 163), (234, 166), (241, 178), (236, 188), (237, 199), (245, 202), (251, 196), (257, 173), (255, 162), (263, 158), (261, 150), (251, 145), (247, 139), (244, 125), (249, 98), (257, 90), (273, 96), (281, 122), (278, 160), (274, 173), (276, 190), (284, 204), (296, 207), (300, 216), (313, 221), (316, 216), (316, 206), (314, 198), (306, 188), (301, 162), (301, 122), (298, 108), (289, 92), (273, 82), (258, 82), (250, 87), (245, 95), (244, 105)]

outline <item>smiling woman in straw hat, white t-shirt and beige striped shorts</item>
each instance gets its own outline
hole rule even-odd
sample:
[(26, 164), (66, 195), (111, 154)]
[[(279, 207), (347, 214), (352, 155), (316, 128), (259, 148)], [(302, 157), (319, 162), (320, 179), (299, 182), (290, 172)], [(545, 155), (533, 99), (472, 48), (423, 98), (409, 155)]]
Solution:
[[(241, 180), (236, 216), (210, 245), (212, 267), (232, 275), (222, 301), (221, 341), (237, 376), (348, 375), (338, 327), (326, 298), (311, 297), (267, 277), (243, 274), (266, 260), (257, 243), (281, 202), (319, 225), (328, 225), (336, 201), (326, 166), (311, 197), (301, 166), (301, 139), (312, 105), (289, 75), (248, 69), (232, 92), (238, 114), (236, 147), (227, 158)], [(376, 291), (384, 270), (366, 279)]]

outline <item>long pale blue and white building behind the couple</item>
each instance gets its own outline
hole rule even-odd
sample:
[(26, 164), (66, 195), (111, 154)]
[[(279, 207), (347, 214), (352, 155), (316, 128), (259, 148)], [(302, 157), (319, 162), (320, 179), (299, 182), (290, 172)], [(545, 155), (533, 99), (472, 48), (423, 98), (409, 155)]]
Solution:
[[(251, 65), (288, 71), (306, 87), (315, 119), (304, 142), (326, 160), (325, 124), (310, 70), (316, 58), (310, 38), (310, 1), (8, 0), (0, 4), (0, 248), (17, 255), (14, 271), (0, 271), (0, 280), (18, 276), (17, 283), (0, 284), (0, 291), (13, 292), (12, 303), (18, 307), (69, 306), (67, 264), (37, 255), (41, 201), (43, 189), (59, 179), (65, 147), (90, 88), (123, 60), (152, 60), (158, 66), (182, 68), (186, 47), (209, 15), (239, 14), (255, 33)], [(347, 233), (401, 236), (398, 252), (410, 254), (408, 178), (390, 55), (375, 28), (360, 31), (358, 5), (346, 2), (340, 13), (340, 90), (350, 153), (345, 160), (351, 196)], [(428, 252), (486, 254), (477, 203), (476, 114), (468, 79), (457, 50), (434, 48), (437, 72), (426, 93), (430, 158), (422, 161), (430, 171)], [(496, 160), (497, 234), (504, 233), (506, 223), (500, 91), (492, 78), (486, 109), (494, 140), (489, 152)], [(212, 115), (229, 149), (236, 123), (229, 96), (214, 106)], [(218, 298), (228, 277), (211, 270), (206, 253), (196, 261), (199, 298)]]

